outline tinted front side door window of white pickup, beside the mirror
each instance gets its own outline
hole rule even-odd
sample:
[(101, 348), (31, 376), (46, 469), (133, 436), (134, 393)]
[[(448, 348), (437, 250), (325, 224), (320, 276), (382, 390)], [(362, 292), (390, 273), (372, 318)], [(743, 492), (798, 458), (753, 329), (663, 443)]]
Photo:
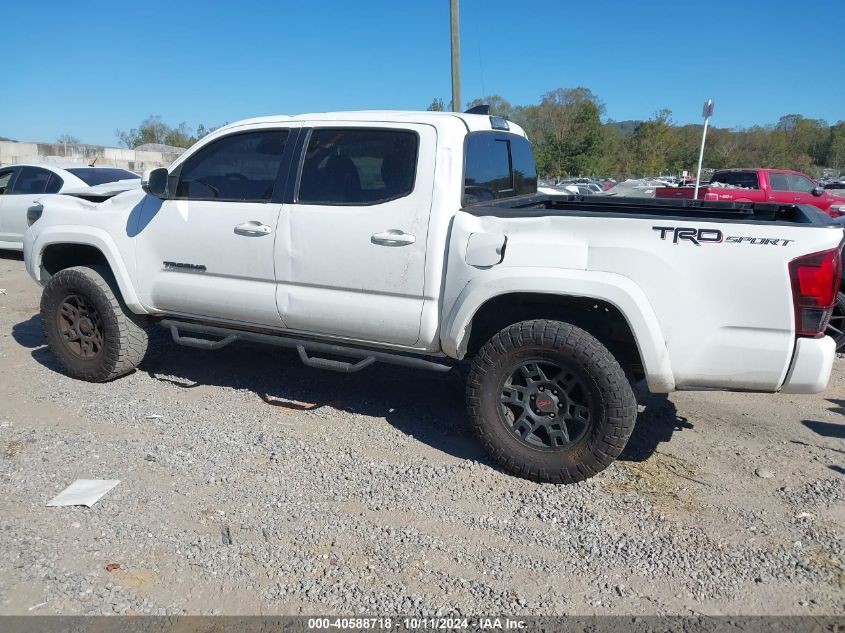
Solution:
[(287, 130), (262, 130), (213, 141), (185, 162), (175, 197), (268, 202), (273, 197), (287, 137)]

